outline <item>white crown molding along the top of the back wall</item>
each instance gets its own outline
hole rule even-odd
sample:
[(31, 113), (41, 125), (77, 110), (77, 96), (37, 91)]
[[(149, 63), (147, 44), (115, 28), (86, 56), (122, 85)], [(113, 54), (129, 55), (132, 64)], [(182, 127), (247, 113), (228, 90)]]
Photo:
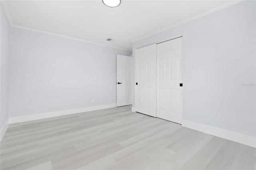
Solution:
[(88, 41), (88, 40), (83, 40), (83, 39), (80, 39), (80, 38), (64, 36), (64, 35), (61, 35), (61, 34), (56, 34), (56, 33), (52, 33), (52, 32), (37, 30), (37, 29), (34, 29), (34, 28), (28, 28), (28, 27), (19, 26), (19, 25), (16, 25), (16, 24), (13, 24), (11, 27), (20, 28), (20, 29), (23, 29), (23, 30), (28, 30), (28, 31), (33, 31), (33, 32), (39, 32), (39, 33), (42, 33), (42, 34), (48, 34), (50, 36), (57, 36), (57, 37), (61, 37), (61, 38), (67, 38), (67, 39), (70, 39), (70, 40), (76, 40), (76, 41), (80, 41), (80, 42), (86, 42), (86, 43), (91, 43), (91, 44), (95, 44), (95, 45), (101, 45), (101, 46), (115, 48), (115, 49), (122, 49), (122, 50), (125, 50), (125, 51), (132, 51), (132, 49), (126, 49), (126, 48), (116, 47), (116, 46), (112, 46), (112, 45), (106, 45), (106, 44), (103, 44), (103, 43), (97, 43), (97, 42), (92, 42), (92, 41)]

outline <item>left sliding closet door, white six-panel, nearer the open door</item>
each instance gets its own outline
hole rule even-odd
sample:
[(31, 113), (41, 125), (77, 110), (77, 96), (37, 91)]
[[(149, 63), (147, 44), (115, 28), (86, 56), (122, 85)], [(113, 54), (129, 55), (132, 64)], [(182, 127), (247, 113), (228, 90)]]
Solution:
[(136, 112), (156, 117), (156, 44), (135, 51)]

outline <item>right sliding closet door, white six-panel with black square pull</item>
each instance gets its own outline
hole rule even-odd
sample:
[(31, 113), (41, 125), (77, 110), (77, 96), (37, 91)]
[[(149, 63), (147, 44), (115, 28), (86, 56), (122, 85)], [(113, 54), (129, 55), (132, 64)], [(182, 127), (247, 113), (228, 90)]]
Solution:
[(157, 44), (157, 117), (182, 124), (182, 38)]

